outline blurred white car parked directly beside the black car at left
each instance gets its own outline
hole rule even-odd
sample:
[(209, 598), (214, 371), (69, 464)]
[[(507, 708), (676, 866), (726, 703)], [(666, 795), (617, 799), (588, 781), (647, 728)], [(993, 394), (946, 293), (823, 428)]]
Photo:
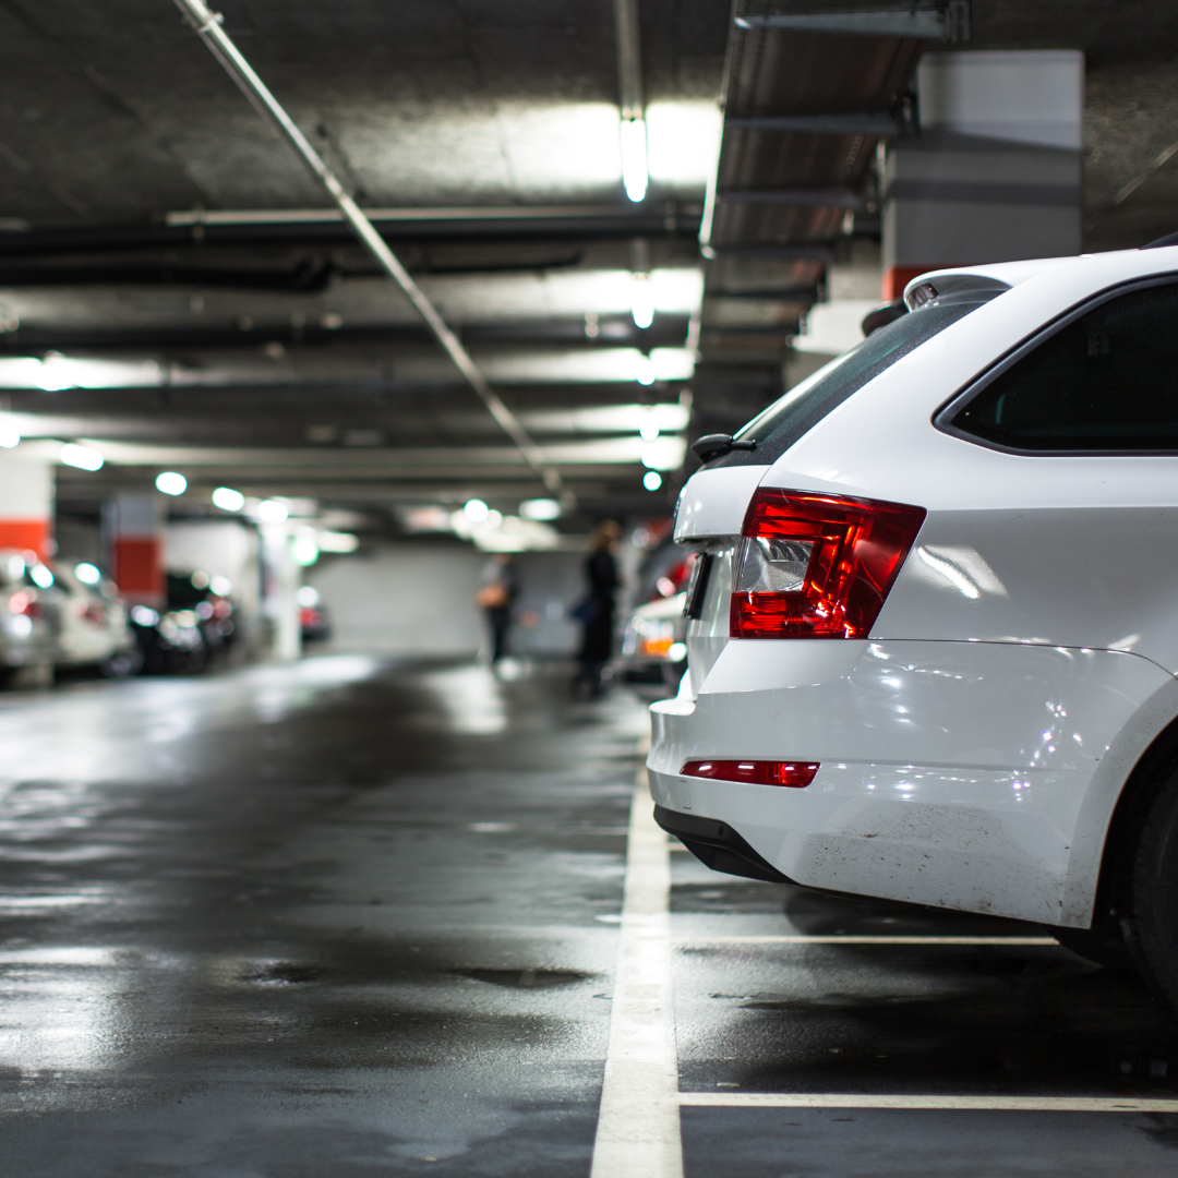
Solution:
[[(46, 611), (54, 631), (54, 664), (97, 667), (112, 679), (134, 675), (143, 654), (114, 582), (87, 561), (53, 561), (46, 568), (53, 575)], [(34, 568), (31, 576), (37, 575)]]

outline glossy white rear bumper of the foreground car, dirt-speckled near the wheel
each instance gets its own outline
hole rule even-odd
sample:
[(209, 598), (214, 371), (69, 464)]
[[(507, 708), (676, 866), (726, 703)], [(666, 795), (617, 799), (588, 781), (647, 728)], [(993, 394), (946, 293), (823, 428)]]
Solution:
[[(1176, 697), (1123, 651), (733, 641), (696, 699), (651, 706), (647, 765), (660, 807), (799, 884), (1086, 926), (1120, 785)], [(788, 789), (687, 777), (689, 757), (821, 768)]]

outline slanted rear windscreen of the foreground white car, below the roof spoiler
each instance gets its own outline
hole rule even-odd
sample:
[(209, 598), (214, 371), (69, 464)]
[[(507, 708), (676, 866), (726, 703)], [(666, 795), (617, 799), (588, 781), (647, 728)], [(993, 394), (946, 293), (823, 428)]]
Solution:
[(732, 450), (708, 463), (708, 469), (776, 462), (802, 435), (868, 380), (1005, 289), (995, 284), (992, 289), (969, 290), (961, 296), (935, 299), (873, 331), (861, 344), (790, 389), (735, 435), (741, 441), (755, 441), (755, 450)]

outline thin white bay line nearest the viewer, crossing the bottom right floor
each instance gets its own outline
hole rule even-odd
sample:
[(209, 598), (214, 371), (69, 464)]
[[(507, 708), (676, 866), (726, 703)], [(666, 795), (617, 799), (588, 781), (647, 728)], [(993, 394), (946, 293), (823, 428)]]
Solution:
[(681, 1092), (690, 1108), (973, 1108), (1000, 1112), (1170, 1112), (1178, 1100), (1132, 1097), (876, 1096), (862, 1092)]

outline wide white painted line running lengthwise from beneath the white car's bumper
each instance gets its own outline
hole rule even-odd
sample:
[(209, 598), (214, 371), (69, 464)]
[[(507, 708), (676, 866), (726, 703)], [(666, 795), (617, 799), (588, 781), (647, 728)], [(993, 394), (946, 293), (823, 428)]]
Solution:
[(683, 1178), (671, 992), (670, 854), (640, 776), (591, 1178)]

